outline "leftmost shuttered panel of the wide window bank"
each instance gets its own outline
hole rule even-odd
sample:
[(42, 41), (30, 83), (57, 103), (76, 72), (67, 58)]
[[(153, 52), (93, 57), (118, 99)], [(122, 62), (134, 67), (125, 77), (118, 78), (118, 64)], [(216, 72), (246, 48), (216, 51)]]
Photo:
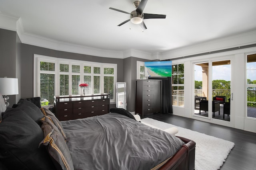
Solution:
[(54, 103), (55, 63), (40, 61), (40, 98), (41, 106)]

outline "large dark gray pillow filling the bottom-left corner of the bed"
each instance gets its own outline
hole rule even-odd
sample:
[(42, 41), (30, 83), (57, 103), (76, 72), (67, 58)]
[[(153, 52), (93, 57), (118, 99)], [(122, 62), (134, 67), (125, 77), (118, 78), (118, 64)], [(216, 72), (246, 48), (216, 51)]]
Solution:
[(44, 133), (24, 111), (13, 109), (0, 123), (0, 160), (10, 170), (54, 169), (45, 147)]

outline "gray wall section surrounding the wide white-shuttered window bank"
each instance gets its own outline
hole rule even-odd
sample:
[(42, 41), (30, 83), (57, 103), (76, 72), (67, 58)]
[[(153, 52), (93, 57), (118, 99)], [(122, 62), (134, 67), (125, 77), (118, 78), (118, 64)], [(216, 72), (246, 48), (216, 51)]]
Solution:
[(100, 63), (116, 63), (117, 64), (117, 81), (118, 82), (124, 81), (123, 59), (113, 59), (113, 58), (96, 57), (96, 56), (83, 55), (83, 54), (77, 54), (77, 53), (69, 53), (64, 51), (57, 51), (57, 50), (37, 47), (34, 45), (22, 44), (21, 98), (30, 98), (34, 96), (33, 94), (34, 54), (63, 58), (63, 59), (74, 59), (74, 60), (92, 61), (92, 62), (100, 62)]

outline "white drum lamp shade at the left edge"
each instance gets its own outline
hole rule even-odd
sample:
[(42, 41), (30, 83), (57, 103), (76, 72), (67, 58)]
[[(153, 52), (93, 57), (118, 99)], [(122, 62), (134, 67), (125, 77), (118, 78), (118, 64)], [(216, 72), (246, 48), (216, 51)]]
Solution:
[(18, 78), (0, 78), (0, 93), (2, 95), (19, 94)]

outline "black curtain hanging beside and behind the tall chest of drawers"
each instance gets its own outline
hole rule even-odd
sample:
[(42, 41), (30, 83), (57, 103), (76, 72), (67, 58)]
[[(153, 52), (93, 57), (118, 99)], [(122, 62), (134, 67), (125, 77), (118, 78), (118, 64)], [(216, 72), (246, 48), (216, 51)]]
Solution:
[(149, 77), (162, 80), (162, 113), (172, 113), (172, 77)]

